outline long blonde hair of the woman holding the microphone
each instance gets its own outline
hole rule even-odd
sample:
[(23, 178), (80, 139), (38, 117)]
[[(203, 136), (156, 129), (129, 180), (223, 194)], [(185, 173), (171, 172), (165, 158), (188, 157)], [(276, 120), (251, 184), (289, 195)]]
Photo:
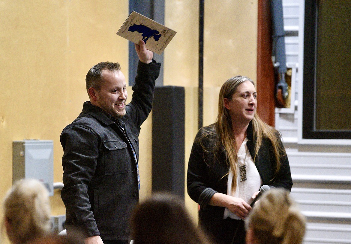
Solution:
[[(209, 134), (217, 133), (217, 141), (215, 142), (214, 154), (219, 155), (219, 153), (224, 149), (224, 152), (226, 153), (227, 163), (229, 163), (230, 170), (232, 170), (233, 173), (233, 179), (237, 179), (238, 176), (238, 155), (236, 152), (236, 148), (238, 145), (235, 141), (233, 134), (231, 116), (229, 114), (229, 111), (224, 106), (224, 98), (231, 99), (238, 86), (245, 81), (250, 81), (254, 85), (252, 79), (240, 75), (232, 77), (226, 82), (224, 82), (219, 92), (218, 116), (217, 121), (214, 124), (215, 130), (212, 130), (211, 132), (206, 132), (204, 134), (204, 137), (206, 137)], [(272, 148), (276, 161), (275, 174), (277, 174), (280, 169), (280, 157), (285, 154), (284, 148), (281, 145), (279, 145), (277, 139), (277, 135), (279, 134), (279, 132), (273, 127), (264, 123), (258, 117), (257, 113), (254, 114), (254, 117), (252, 119), (252, 127), (253, 139), (256, 141), (255, 154), (253, 155), (253, 159), (256, 160), (258, 156), (258, 150), (262, 145), (262, 139), (268, 138), (272, 143)], [(229, 172), (227, 174), (229, 174)], [(232, 189), (236, 189), (236, 184), (237, 181), (233, 180)]]

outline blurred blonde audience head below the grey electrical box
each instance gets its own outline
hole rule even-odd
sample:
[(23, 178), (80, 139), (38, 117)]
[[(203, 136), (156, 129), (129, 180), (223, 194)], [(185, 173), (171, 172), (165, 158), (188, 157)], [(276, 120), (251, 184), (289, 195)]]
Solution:
[(44, 184), (35, 179), (16, 181), (4, 198), (2, 233), (13, 244), (24, 244), (51, 232), (50, 203)]

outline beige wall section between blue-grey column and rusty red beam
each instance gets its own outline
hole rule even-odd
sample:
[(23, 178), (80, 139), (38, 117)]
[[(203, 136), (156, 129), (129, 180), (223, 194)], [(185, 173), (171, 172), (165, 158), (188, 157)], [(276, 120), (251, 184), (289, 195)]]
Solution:
[[(205, 1), (204, 125), (216, 121), (220, 86), (235, 75), (256, 81), (258, 1)], [(185, 86), (185, 175), (198, 114), (199, 2), (166, 0), (165, 25), (177, 32), (164, 51), (164, 84)], [(186, 191), (185, 191), (186, 192)], [(194, 219), (197, 204), (185, 193)]]

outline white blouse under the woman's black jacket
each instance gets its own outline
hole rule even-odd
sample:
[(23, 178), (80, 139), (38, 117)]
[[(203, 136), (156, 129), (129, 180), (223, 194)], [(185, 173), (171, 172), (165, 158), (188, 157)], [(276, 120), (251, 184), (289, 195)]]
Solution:
[[(246, 180), (240, 182), (240, 172), (239, 172), (239, 168), (238, 168), (238, 171), (237, 171), (238, 177), (236, 179), (237, 188), (235, 189), (235, 191), (233, 191), (233, 193), (231, 192), (232, 191), (232, 180), (233, 180), (232, 170), (230, 170), (230, 172), (229, 172), (228, 182), (227, 182), (227, 195), (242, 198), (246, 202), (250, 200), (251, 196), (256, 191), (260, 190), (260, 187), (262, 184), (262, 179), (258, 173), (258, 170), (255, 166), (255, 163), (253, 162), (251, 154), (250, 154), (249, 150), (247, 149), (247, 145), (246, 145), (247, 141), (249, 141), (249, 139), (245, 138), (245, 140), (243, 141), (243, 144), (241, 144), (239, 152), (238, 152), (239, 165), (242, 166), (245, 163), (245, 166), (246, 166)], [(246, 155), (246, 157), (245, 157), (245, 155)], [(244, 162), (244, 160), (245, 160), (245, 162)], [(223, 219), (226, 219), (227, 217), (230, 217), (233, 219), (241, 219), (236, 214), (229, 211), (229, 209), (225, 208)]]

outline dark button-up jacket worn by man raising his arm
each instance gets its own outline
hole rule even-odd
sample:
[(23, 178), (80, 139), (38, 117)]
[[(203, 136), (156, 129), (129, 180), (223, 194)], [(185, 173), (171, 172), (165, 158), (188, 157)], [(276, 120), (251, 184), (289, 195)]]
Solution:
[[(61, 133), (66, 227), (102, 239), (130, 239), (129, 218), (138, 203), (138, 175), (131, 142), (139, 158), (140, 125), (152, 108), (160, 63), (139, 61), (131, 102), (116, 121), (85, 102)], [(124, 133), (117, 123), (124, 128)]]

